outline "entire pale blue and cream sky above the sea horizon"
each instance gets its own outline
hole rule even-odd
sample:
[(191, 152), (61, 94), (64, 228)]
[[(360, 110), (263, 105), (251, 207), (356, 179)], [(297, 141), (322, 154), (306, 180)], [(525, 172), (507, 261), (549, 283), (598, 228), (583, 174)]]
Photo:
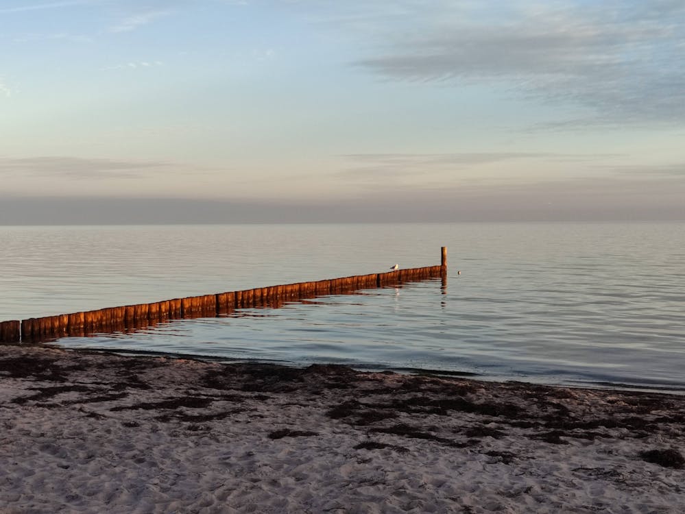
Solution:
[(0, 224), (685, 220), (682, 0), (0, 0)]

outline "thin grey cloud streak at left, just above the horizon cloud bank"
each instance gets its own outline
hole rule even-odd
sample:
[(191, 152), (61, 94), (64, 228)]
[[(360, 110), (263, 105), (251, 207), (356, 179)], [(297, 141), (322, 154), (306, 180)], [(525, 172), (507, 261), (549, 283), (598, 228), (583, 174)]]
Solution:
[(136, 178), (149, 170), (163, 172), (167, 162), (136, 162), (77, 157), (0, 158), (0, 175), (33, 175), (71, 180)]

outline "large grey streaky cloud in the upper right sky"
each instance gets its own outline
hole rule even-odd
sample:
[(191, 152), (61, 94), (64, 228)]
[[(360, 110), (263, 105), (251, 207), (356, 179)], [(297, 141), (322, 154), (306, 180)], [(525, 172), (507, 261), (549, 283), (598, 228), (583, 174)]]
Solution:
[(405, 22), (373, 24), (379, 36), (356, 66), (401, 81), (488, 84), (581, 106), (575, 124), (685, 120), (682, 1), (402, 5)]

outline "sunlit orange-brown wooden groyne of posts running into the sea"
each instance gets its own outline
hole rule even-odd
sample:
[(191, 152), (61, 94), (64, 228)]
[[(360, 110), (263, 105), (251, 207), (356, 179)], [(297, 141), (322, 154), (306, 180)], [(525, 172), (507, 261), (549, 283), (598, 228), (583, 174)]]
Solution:
[(151, 304), (108, 307), (57, 316), (0, 322), (0, 343), (36, 343), (60, 337), (125, 332), (155, 326), (169, 319), (192, 319), (229, 315), (237, 309), (278, 308), (286, 303), (325, 295), (341, 295), (360, 289), (396, 286), (428, 278), (444, 278), (447, 249), (442, 247), (440, 266), (398, 269), (350, 277), (258, 287), (211, 295), (174, 298)]

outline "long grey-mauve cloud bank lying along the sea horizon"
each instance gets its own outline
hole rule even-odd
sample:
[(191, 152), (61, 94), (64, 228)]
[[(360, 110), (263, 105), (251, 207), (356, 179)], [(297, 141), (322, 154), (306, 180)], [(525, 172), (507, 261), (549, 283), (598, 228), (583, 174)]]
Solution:
[(0, 225), (685, 220), (685, 180), (567, 180), (311, 199), (36, 197), (0, 193)]

